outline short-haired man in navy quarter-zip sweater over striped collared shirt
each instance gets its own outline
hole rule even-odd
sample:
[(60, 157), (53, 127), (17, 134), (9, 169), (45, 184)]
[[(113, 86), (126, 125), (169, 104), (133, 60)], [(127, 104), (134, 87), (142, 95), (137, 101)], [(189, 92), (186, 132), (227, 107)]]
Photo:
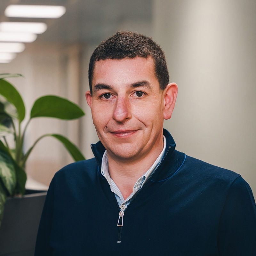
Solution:
[(117, 32), (93, 52), (89, 84), (95, 158), (55, 174), (35, 255), (256, 255), (249, 185), (163, 131), (178, 89), (160, 47)]

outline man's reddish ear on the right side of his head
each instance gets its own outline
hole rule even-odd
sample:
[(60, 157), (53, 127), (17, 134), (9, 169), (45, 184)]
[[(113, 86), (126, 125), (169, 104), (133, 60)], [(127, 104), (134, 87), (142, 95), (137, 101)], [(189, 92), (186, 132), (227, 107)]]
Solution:
[(178, 86), (175, 83), (168, 84), (164, 89), (164, 119), (170, 119), (175, 106)]

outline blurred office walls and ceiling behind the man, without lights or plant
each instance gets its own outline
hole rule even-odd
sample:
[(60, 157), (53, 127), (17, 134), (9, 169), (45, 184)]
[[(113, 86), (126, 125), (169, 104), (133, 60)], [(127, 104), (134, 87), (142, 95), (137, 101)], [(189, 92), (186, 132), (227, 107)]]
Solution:
[[(60, 5), (59, 18), (7, 17), (10, 4)], [(118, 30), (150, 36), (164, 50), (170, 82), (179, 87), (173, 116), (165, 121), (189, 156), (240, 173), (256, 195), (256, 1), (253, 0), (1, 0), (1, 22), (43, 22), (37, 35), (0, 73), (18, 88), (26, 108), (46, 94), (76, 102), (86, 116), (76, 121), (35, 119), (26, 148), (46, 132), (62, 133), (86, 158), (98, 141), (85, 92), (94, 48)], [(1, 53), (1, 50), (0, 50)], [(0, 54), (1, 56), (1, 54)], [(27, 113), (29, 115), (29, 111)], [(26, 166), (33, 179), (49, 185), (54, 173), (71, 163), (53, 138), (41, 140)]]

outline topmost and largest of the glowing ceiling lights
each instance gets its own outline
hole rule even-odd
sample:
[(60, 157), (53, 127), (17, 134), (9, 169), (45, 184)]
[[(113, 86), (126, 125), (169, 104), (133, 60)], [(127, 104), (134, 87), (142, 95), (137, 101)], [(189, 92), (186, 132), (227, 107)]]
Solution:
[(4, 11), (7, 17), (60, 18), (66, 12), (64, 6), (11, 4)]

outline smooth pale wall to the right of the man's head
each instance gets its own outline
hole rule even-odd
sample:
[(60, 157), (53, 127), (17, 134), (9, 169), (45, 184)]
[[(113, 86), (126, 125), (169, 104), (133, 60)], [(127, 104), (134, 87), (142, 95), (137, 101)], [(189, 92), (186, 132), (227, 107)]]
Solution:
[(154, 39), (179, 87), (177, 149), (238, 172), (256, 195), (256, 1), (155, 0)]

